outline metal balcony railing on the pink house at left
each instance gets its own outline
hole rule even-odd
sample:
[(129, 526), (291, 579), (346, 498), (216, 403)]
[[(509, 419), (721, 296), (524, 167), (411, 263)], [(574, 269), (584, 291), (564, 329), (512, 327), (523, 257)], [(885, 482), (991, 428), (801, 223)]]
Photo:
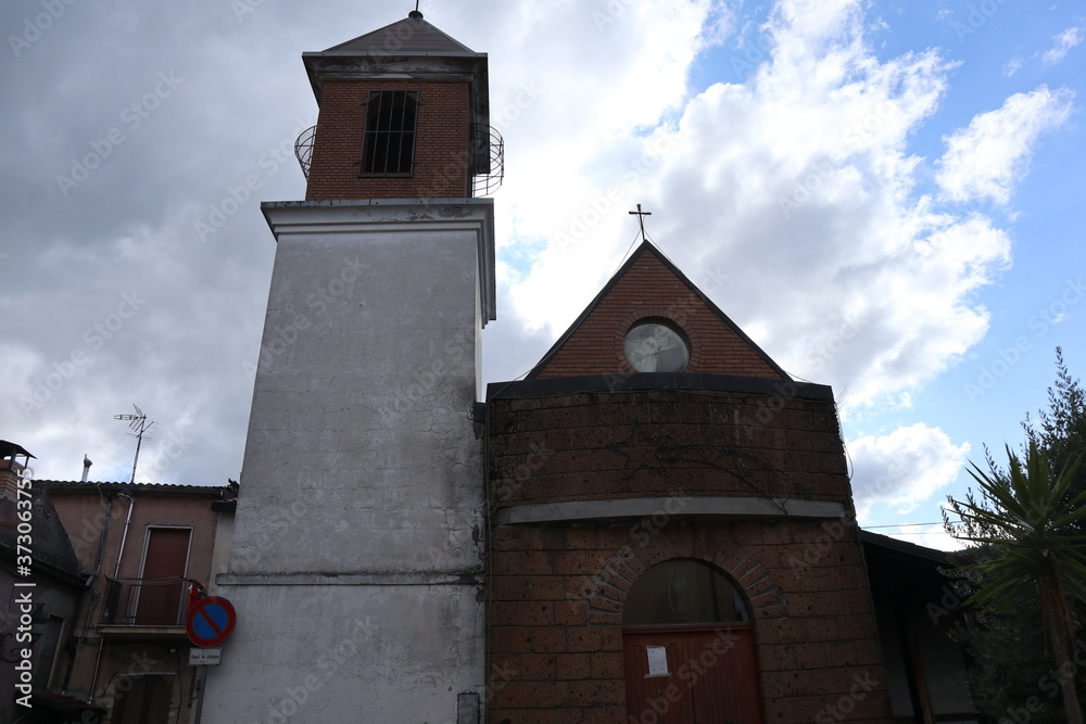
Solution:
[(184, 626), (188, 579), (106, 577), (102, 625)]

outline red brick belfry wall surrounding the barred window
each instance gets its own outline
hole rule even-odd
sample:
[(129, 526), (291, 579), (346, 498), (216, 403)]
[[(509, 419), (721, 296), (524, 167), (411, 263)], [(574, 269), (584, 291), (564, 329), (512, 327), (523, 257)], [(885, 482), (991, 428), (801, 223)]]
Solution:
[[(374, 90), (418, 91), (415, 168), (411, 176), (359, 175), (367, 101)], [(469, 99), (466, 80), (327, 79), (305, 200), (470, 196)]]

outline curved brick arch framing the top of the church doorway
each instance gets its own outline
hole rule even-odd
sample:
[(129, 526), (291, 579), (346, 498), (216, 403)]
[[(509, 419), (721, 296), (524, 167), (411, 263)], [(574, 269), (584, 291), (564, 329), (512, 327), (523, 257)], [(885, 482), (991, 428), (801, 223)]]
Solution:
[(593, 583), (590, 625), (620, 625), (633, 583), (653, 566), (677, 558), (699, 560), (727, 573), (746, 598), (753, 622), (787, 617), (784, 594), (772, 573), (730, 536), (697, 525), (672, 524), (636, 537), (611, 557)]

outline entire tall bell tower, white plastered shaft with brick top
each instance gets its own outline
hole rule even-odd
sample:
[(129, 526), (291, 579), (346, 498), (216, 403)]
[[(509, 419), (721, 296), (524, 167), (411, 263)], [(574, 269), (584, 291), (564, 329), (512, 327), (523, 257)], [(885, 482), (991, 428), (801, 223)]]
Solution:
[[(319, 105), (277, 242), (205, 722), (476, 722), (494, 312), (488, 66), (421, 13), (303, 54)], [(481, 187), (481, 188), (480, 188)]]

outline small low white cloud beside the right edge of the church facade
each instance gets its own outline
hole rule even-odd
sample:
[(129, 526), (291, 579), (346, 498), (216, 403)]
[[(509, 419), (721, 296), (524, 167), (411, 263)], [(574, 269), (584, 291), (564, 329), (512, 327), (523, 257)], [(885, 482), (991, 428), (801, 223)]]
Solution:
[(968, 443), (955, 445), (943, 430), (922, 422), (888, 435), (858, 437), (847, 447), (861, 525), (879, 504), (901, 513), (915, 510), (958, 477), (970, 450)]

